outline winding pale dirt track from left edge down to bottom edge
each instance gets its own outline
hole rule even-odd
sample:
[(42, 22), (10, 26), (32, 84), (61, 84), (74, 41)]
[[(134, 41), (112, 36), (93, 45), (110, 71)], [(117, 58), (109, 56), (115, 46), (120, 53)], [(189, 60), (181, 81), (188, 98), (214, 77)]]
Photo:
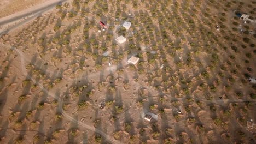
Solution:
[[(3, 44), (1, 44), (3, 45)], [(7, 46), (5, 46), (7, 47)], [(10, 49), (12, 50), (15, 50), (16, 52), (19, 53), (19, 56), (20, 56), (20, 62), (21, 62), (21, 70), (22, 70), (22, 74), (27, 76), (33, 83), (37, 83), (37, 85), (40, 87), (40, 89), (42, 89), (42, 91), (44, 91), (45, 93), (47, 93), (50, 97), (52, 98), (56, 98), (55, 97), (55, 94), (52, 94), (50, 93), (46, 88), (43, 87), (43, 85), (39, 82), (36, 82), (36, 80), (34, 80), (31, 76), (27, 75), (27, 71), (26, 71), (26, 67), (25, 67), (25, 56), (23, 54), (23, 52), (21, 52), (20, 50), (16, 49), (15, 47), (9, 47)], [(95, 133), (98, 133), (98, 134), (101, 134), (103, 137), (105, 137), (106, 140), (112, 142), (112, 143), (120, 143), (118, 142), (117, 140), (114, 140), (112, 138), (110, 138), (107, 134), (105, 134), (103, 131), (101, 130), (98, 130), (94, 127), (92, 127), (91, 125), (88, 125), (88, 124), (85, 124), (85, 123), (82, 123), (82, 122), (79, 122), (77, 121), (76, 119), (74, 119), (73, 117), (69, 116), (66, 112), (63, 111), (63, 107), (62, 107), (62, 100), (61, 98), (58, 98), (57, 99), (58, 103), (59, 103), (59, 109), (60, 111), (62, 111), (62, 115), (64, 117), (66, 117), (67, 119), (69, 119), (69, 121), (72, 121), (72, 122), (75, 122), (75, 123), (78, 123), (78, 125), (80, 125), (81, 127), (83, 128), (86, 128), (86, 129), (89, 129), (91, 131), (94, 131)]]

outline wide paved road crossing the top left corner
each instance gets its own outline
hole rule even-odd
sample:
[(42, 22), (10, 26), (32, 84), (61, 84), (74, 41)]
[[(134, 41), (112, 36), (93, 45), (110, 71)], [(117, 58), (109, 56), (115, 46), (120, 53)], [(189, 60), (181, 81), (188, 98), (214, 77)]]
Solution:
[(49, 11), (53, 8), (56, 7), (57, 4), (61, 4), (63, 2), (66, 2), (68, 0), (53, 0), (51, 2), (47, 1), (43, 4), (39, 4), (39, 5), (35, 5), (34, 7), (24, 10), (24, 11), (20, 11), (19, 13), (13, 14), (13, 15), (9, 15), (6, 17), (3, 17), (0, 19), (0, 26), (4, 26), (4, 25), (8, 25), (9, 23), (15, 22), (15, 21), (19, 21), (22, 20), (28, 16), (30, 16), (28, 19), (18, 22), (15, 25), (7, 28), (7, 29), (3, 29), (2, 31), (0, 31), (0, 37), (3, 34), (7, 34), (9, 31), (24, 25), (25, 23), (27, 23), (28, 21), (31, 21), (33, 19), (35, 19), (36, 17), (42, 15), (43, 13), (45, 13), (46, 11)]

